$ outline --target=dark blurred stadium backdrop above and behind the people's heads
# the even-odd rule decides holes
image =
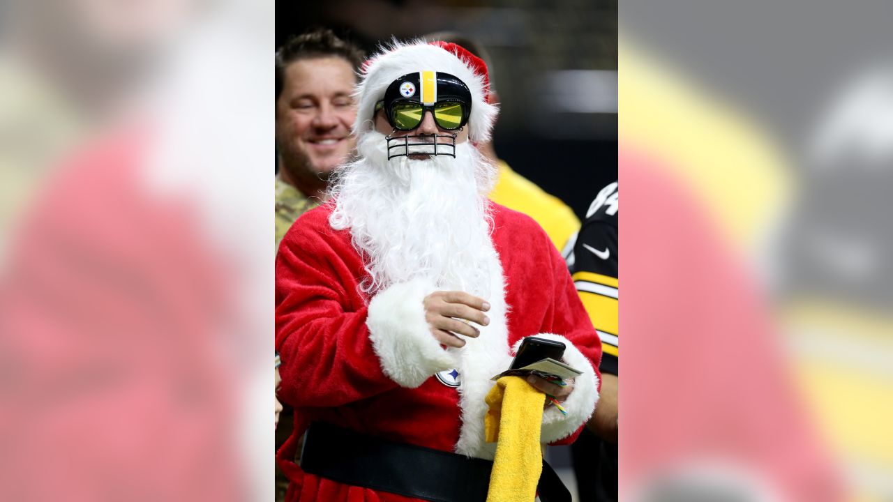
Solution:
[[[615,0],[277,2],[278,46],[314,26],[367,53],[392,37],[445,30],[472,37],[493,60],[500,158],[580,219],[598,190],[616,180]]]

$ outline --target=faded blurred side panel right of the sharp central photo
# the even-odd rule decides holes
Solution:
[[[885,2],[622,3],[628,495],[893,499],[890,19]],[[637,417],[663,405],[683,411],[651,434]]]

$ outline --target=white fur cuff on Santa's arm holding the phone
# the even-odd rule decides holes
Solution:
[[[533,336],[562,342],[565,346],[563,362],[583,372],[573,380],[571,395],[562,403],[567,415],[562,414],[555,406],[549,406],[543,413],[540,441],[551,443],[570,436],[580,428],[580,425],[588,422],[598,402],[598,377],[586,356],[583,356],[569,339],[552,333],[539,333]],[[513,352],[518,351],[522,341],[523,339],[520,339],[514,344]]]

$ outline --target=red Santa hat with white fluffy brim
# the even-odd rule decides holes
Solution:
[[[429,44],[423,40],[409,43],[395,40],[363,64],[355,91],[359,110],[354,133],[360,135],[373,129],[375,104],[384,98],[391,82],[407,73],[422,70],[449,73],[468,86],[472,91],[472,114],[466,126],[469,138],[475,143],[487,141],[499,111],[496,105],[489,103],[487,64],[461,46],[447,42]]]

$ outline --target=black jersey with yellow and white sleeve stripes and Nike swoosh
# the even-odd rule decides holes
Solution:
[[[617,374],[617,181],[602,188],[567,255],[574,284],[602,340],[601,372]],[[569,247],[570,248],[570,247]]]

